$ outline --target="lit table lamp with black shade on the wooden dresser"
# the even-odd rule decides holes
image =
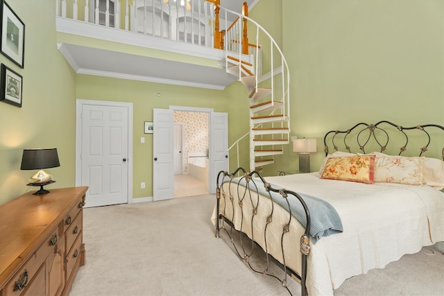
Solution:
[[[33,195],[49,193],[43,189],[44,185],[54,183],[52,176],[43,171],[43,168],[55,168],[60,166],[58,160],[57,148],[36,148],[24,149],[22,157],[21,170],[39,170],[31,177],[28,186],[40,186],[40,190],[35,191]]]

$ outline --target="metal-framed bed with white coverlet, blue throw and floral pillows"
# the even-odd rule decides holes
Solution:
[[[248,236],[301,295],[333,295],[345,279],[444,241],[443,126],[357,123],[327,132],[324,146],[314,173],[219,172],[216,237],[227,234],[250,265]]]

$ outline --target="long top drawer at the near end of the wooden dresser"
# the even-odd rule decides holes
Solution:
[[[22,295],[26,287],[28,287],[31,282],[35,281],[37,275],[40,275],[40,268],[43,268],[43,279],[44,279],[44,261],[50,252],[55,252],[56,244],[60,237],[56,229],[51,232],[49,236],[43,241],[42,245],[37,251],[26,261],[22,268],[15,274],[15,276],[8,282],[6,287],[3,289],[3,295]],[[40,279],[40,278],[39,278]]]

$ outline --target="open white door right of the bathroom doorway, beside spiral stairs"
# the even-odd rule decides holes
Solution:
[[[228,171],[228,114],[212,112],[210,122],[210,193],[216,193],[216,178]]]

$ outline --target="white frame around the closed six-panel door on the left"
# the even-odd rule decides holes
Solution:
[[[82,107],[83,105],[101,105],[128,108],[128,203],[133,202],[133,103],[95,101],[76,99],[76,186],[82,180]]]

